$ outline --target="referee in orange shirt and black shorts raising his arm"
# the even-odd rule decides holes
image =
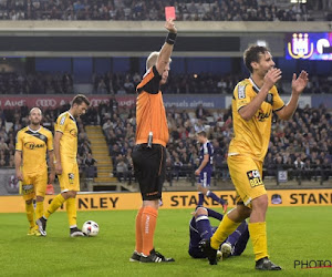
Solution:
[[[136,216],[136,248],[131,261],[174,261],[154,249],[169,136],[160,85],[167,82],[177,33],[173,19],[166,21],[165,28],[168,30],[166,41],[159,52],[152,52],[147,58],[147,71],[136,89],[136,146],[133,151],[133,163],[143,205]]]

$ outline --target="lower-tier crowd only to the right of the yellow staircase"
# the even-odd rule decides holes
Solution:
[[[131,153],[135,142],[135,117],[132,110],[127,111],[127,115],[124,114],[114,112],[113,117],[102,119],[102,124],[114,164],[122,162],[121,166],[129,175],[133,167]],[[211,113],[199,106],[193,113],[169,109],[167,120],[170,133],[167,146],[168,181],[193,175],[199,162],[199,145],[195,134],[200,130],[208,132],[214,144],[216,177],[229,178],[226,158],[232,136],[230,110]],[[324,181],[328,179],[332,170],[331,125],[331,114],[323,107],[298,109],[293,120],[276,121],[264,162],[264,175],[276,176],[276,170],[287,170],[290,178],[317,179],[321,176]],[[114,173],[116,175],[116,170]]]

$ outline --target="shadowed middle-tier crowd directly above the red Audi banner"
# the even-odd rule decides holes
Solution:
[[[91,93],[94,94],[134,94],[141,81],[141,75],[135,73],[105,73],[95,74],[90,81]],[[221,93],[231,94],[237,81],[246,78],[240,74],[169,74],[168,84],[163,88],[164,93],[176,94],[204,94]],[[89,82],[89,81],[87,81]],[[70,73],[0,73],[1,94],[68,94],[74,93],[74,78]],[[280,93],[290,93],[287,88],[289,81],[280,82]],[[332,93],[332,78],[313,75],[304,93],[321,94]]]

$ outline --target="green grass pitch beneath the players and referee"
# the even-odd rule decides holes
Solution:
[[[252,246],[240,257],[209,266],[189,257],[190,209],[159,211],[156,249],[174,264],[129,263],[136,211],[81,212],[79,223],[100,224],[97,237],[69,237],[65,213],[53,214],[46,237],[27,236],[24,214],[0,214],[0,276],[332,276],[332,268],[294,268],[294,260],[332,260],[332,207],[272,207],[268,211],[271,259],[284,270],[253,269]],[[212,220],[212,225],[217,222]]]

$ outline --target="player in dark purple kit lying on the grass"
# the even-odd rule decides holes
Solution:
[[[217,227],[210,225],[209,217],[216,218],[221,222],[222,215],[218,212],[197,206],[195,214],[189,223],[189,255],[193,258],[206,258],[207,256],[199,248],[201,239],[209,239]],[[220,258],[229,256],[239,256],[246,249],[249,239],[248,224],[243,220],[239,227],[221,244],[219,250]]]

